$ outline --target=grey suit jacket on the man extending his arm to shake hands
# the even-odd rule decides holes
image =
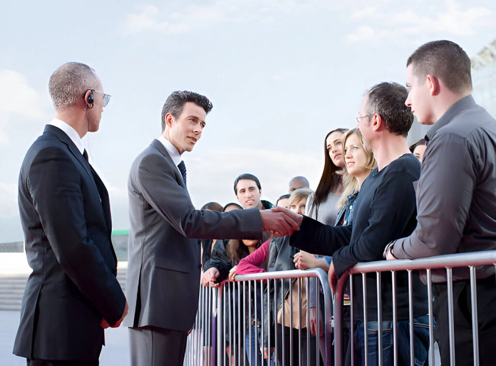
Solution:
[[[259,239],[260,213],[195,210],[178,168],[158,140],[134,160],[127,188],[129,312],[123,324],[187,331],[198,308],[198,239]]]

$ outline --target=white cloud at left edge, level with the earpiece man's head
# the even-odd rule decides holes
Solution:
[[[0,146],[9,142],[9,121],[46,119],[48,112],[42,94],[29,85],[26,77],[14,70],[0,70]]]

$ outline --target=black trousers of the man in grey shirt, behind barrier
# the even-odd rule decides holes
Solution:
[[[434,338],[439,346],[441,365],[450,365],[448,293],[446,283],[433,284],[433,314],[436,321]],[[496,279],[477,280],[479,325],[479,363],[495,365],[496,345]],[[472,305],[470,281],[453,282],[453,320],[456,365],[473,365]]]

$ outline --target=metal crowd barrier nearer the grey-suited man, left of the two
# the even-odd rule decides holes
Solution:
[[[310,336],[313,295],[315,337]],[[201,286],[184,365],[332,365],[331,317],[332,295],[322,269],[236,276],[236,281],[225,281],[219,288]]]

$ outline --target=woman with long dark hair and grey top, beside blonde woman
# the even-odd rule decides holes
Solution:
[[[343,191],[343,134],[346,131],[338,128],[325,136],[324,170],[315,193],[307,201],[307,216],[328,225],[334,225],[336,221],[339,211],[336,203]]]

